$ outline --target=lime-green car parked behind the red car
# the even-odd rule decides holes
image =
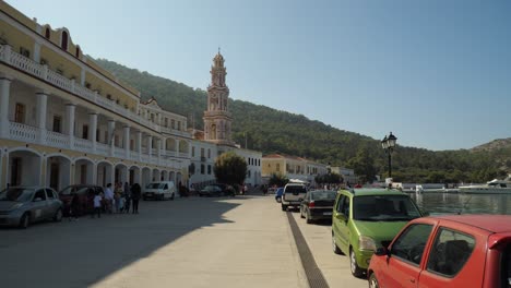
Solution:
[[[332,213],[332,248],[349,255],[355,277],[361,277],[372,253],[388,247],[412,219],[421,217],[412,199],[387,189],[341,190]]]

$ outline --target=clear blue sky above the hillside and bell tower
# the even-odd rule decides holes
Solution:
[[[405,146],[511,136],[511,1],[8,0],[95,58]]]

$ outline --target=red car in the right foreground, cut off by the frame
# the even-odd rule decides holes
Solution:
[[[511,287],[511,216],[412,220],[372,255],[369,287]]]

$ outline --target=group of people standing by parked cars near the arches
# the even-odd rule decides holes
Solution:
[[[142,188],[139,183],[130,185],[128,182],[122,184],[116,183],[112,189],[111,183],[108,183],[105,193],[98,193],[94,196],[94,213],[97,217],[102,217],[102,211],[112,214],[116,213],[130,213],[139,214],[139,202],[142,197]]]

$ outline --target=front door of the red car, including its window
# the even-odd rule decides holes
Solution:
[[[421,263],[433,223],[416,223],[407,226],[392,242],[387,267],[381,269],[381,283],[387,287],[418,287]]]

